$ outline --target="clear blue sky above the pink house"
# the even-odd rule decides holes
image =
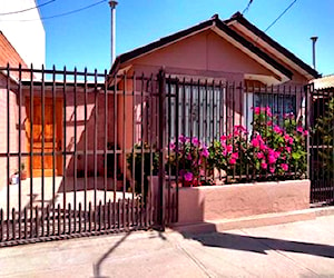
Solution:
[[[39,4],[47,0],[38,0]],[[99,0],[56,0],[40,8],[50,17]],[[265,30],[293,0],[253,0],[245,17]],[[117,54],[186,29],[218,13],[220,19],[242,11],[248,0],[119,0]],[[317,70],[334,73],[334,1],[297,0],[268,31],[273,39],[312,63],[310,37],[318,36]],[[107,1],[66,17],[43,20],[47,34],[47,67],[75,66],[82,70],[110,68],[110,9]]]

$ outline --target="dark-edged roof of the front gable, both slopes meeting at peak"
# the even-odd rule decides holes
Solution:
[[[228,37],[229,40],[233,40],[234,43],[238,44],[240,48],[246,49],[246,51],[250,52],[253,56],[259,58],[263,62],[267,63],[274,71],[278,71],[281,75],[285,76],[286,78],[291,79],[293,73],[289,69],[287,69],[282,63],[277,62],[275,59],[269,57],[266,52],[261,50],[258,47],[254,46],[252,42],[246,40],[244,37],[238,34],[236,31],[230,29],[224,21],[222,21],[217,14],[213,16],[209,20],[206,20],[199,24],[190,27],[186,30],[176,32],[174,34],[164,37],[155,42],[151,42],[147,46],[134,49],[129,52],[122,53],[118,56],[111,67],[110,73],[115,73],[119,66],[126,61],[136,59],[140,56],[147,54],[151,51],[155,51],[159,48],[166,47],[170,43],[174,43],[180,39],[186,37],[193,36],[206,29],[214,29],[215,31],[219,32]]]

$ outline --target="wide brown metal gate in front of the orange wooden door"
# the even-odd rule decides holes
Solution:
[[[161,88],[153,76],[0,68],[0,245],[160,225]]]

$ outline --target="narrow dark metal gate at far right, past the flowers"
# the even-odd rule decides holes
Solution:
[[[306,89],[312,96],[310,140],[311,202],[334,203],[334,88]]]

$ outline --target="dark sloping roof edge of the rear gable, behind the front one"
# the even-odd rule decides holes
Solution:
[[[286,48],[284,48],[282,44],[279,44],[277,41],[273,40],[269,36],[267,36],[265,32],[259,30],[256,26],[252,24],[247,19],[244,18],[244,16],[240,12],[236,12],[235,14],[233,14],[230,17],[230,19],[227,19],[224,22],[226,24],[229,24],[233,21],[237,21],[238,23],[240,23],[243,27],[245,27],[247,30],[249,30],[252,33],[254,33],[257,38],[262,39],[264,42],[266,42],[273,49],[277,50],[279,53],[285,56],[296,67],[304,70],[305,72],[311,75],[313,78],[320,77],[320,75],[316,70],[314,70],[307,63],[303,62],[298,57],[296,57],[294,53],[288,51]]]

